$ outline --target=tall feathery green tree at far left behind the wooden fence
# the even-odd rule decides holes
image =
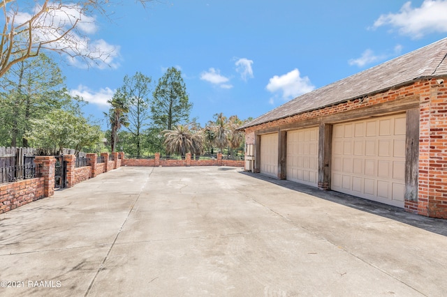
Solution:
[[[28,146],[23,135],[31,120],[55,109],[78,110],[80,100],[68,94],[64,79],[57,64],[45,54],[15,63],[0,77],[0,145]]]

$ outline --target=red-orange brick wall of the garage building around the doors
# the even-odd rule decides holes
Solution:
[[[289,116],[245,129],[247,144],[255,143],[255,132],[281,125],[362,109],[380,103],[418,96],[420,98],[418,201],[405,201],[406,211],[434,218],[447,218],[447,87],[437,78],[390,89],[367,98],[349,100],[312,112]],[[447,81],[447,77],[443,77]]]

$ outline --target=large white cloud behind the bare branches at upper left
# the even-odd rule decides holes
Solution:
[[[34,13],[40,10],[41,5],[36,4]],[[32,17],[30,13],[15,13],[12,10],[9,15],[15,15],[15,26],[25,24]],[[76,22],[78,23],[72,30]],[[63,52],[75,67],[104,69],[119,66],[116,59],[119,57],[120,47],[110,45],[102,39],[91,40],[89,35],[98,29],[95,19],[85,15],[75,3],[48,3],[45,13],[38,15],[32,26],[34,40],[49,42],[43,48]],[[82,59],[85,57],[87,58]]]

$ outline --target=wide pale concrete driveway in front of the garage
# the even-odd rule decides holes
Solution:
[[[0,215],[0,296],[446,296],[446,227],[230,167],[121,167]]]

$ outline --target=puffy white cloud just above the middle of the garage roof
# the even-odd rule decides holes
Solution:
[[[271,93],[282,92],[282,98],[287,100],[309,93],[315,86],[311,84],[309,77],[300,77],[300,70],[295,68],[285,75],[274,75],[265,88]]]

